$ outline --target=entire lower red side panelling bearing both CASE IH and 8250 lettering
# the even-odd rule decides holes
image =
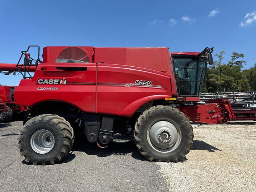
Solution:
[[[172,96],[170,77],[166,73],[115,64],[72,65],[86,66],[86,71],[57,70],[60,66],[70,66],[70,64],[40,64],[32,80],[22,80],[20,86],[16,87],[14,92],[16,103],[34,106],[46,101],[62,101],[73,104],[85,112],[132,116],[142,104]],[[52,70],[48,70],[49,68]],[[63,78],[66,79],[66,84],[38,84],[38,79]],[[150,80],[152,84],[136,86],[136,80]],[[47,90],[47,88],[58,89]]]

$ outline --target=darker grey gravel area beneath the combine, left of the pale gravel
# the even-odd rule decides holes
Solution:
[[[100,150],[80,136],[74,151],[59,164],[27,164],[17,148],[21,126],[0,124],[0,191],[168,191],[159,166],[146,161],[134,142]]]

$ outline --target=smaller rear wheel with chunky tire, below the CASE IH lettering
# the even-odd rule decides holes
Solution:
[[[74,142],[70,123],[58,115],[43,114],[28,120],[18,136],[20,155],[34,165],[54,164],[67,156]]]

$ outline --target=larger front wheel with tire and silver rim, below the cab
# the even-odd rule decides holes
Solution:
[[[153,106],[138,118],[134,140],[150,161],[178,162],[193,144],[193,128],[186,116],[171,106]]]

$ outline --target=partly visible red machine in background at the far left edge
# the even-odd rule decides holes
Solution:
[[[26,117],[26,106],[20,106],[15,103],[14,90],[15,86],[0,85],[0,102],[4,103],[7,108],[7,117],[2,120],[2,123],[10,122],[13,116],[15,116],[16,118],[21,116],[22,120]]]

